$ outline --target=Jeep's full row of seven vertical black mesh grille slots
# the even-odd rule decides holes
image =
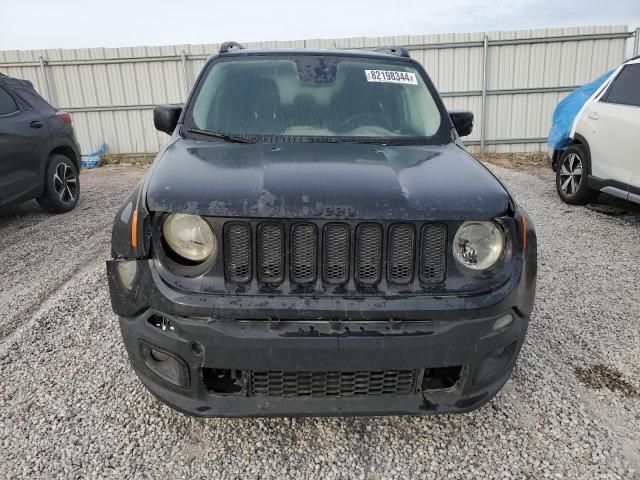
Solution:
[[[441,223],[230,220],[222,249],[227,282],[255,278],[265,287],[289,282],[305,291],[321,291],[321,282],[365,293],[381,284],[403,292],[438,288],[446,279],[446,246]]]

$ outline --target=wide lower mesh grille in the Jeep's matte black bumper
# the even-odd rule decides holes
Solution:
[[[418,370],[360,372],[250,372],[249,395],[325,397],[415,393]]]

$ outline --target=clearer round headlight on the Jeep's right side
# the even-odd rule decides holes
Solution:
[[[453,238],[454,258],[473,270],[494,265],[504,248],[504,232],[496,222],[464,222]]]

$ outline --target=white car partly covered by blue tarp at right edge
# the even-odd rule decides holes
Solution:
[[[595,91],[570,138],[552,155],[562,200],[585,204],[605,192],[640,203],[640,57],[619,66]]]

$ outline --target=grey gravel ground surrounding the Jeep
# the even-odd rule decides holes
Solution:
[[[84,172],[66,215],[1,210],[0,477],[640,478],[640,228],[491,168],[538,229],[538,299],[512,381],[457,416],[182,416],[129,368],[105,280],[144,171]]]

